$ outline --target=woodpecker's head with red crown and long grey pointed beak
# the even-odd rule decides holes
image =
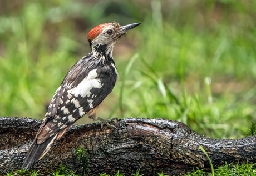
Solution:
[[[87,35],[91,50],[96,50],[96,52],[111,52],[119,38],[139,24],[134,23],[120,26],[119,23],[113,22],[94,27]]]

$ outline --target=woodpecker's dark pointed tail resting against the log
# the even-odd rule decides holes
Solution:
[[[53,141],[56,139],[57,134],[48,138],[42,144],[37,144],[37,139],[33,141],[28,149],[27,156],[23,162],[22,169],[30,169],[35,162],[42,159],[43,156],[50,150]]]

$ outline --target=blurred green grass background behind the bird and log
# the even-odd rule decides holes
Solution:
[[[114,49],[119,79],[99,117],[179,120],[215,138],[256,118],[256,1],[0,1],[0,115],[43,119],[105,22],[141,22]],[[78,123],[91,123],[84,117]]]

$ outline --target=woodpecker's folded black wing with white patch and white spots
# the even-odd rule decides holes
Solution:
[[[43,143],[75,123],[89,110],[96,108],[112,91],[115,81],[115,69],[112,66],[104,66],[101,69],[92,69],[76,86],[62,86],[56,115],[38,135],[38,143]]]

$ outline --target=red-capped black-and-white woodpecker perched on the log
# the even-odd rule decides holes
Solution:
[[[121,36],[139,24],[120,26],[116,22],[104,23],[88,32],[91,52],[71,67],[53,95],[45,118],[28,149],[23,169],[31,168],[37,160],[42,159],[55,139],[60,139],[83,115],[97,120],[96,109],[112,91],[117,79],[113,48]]]

